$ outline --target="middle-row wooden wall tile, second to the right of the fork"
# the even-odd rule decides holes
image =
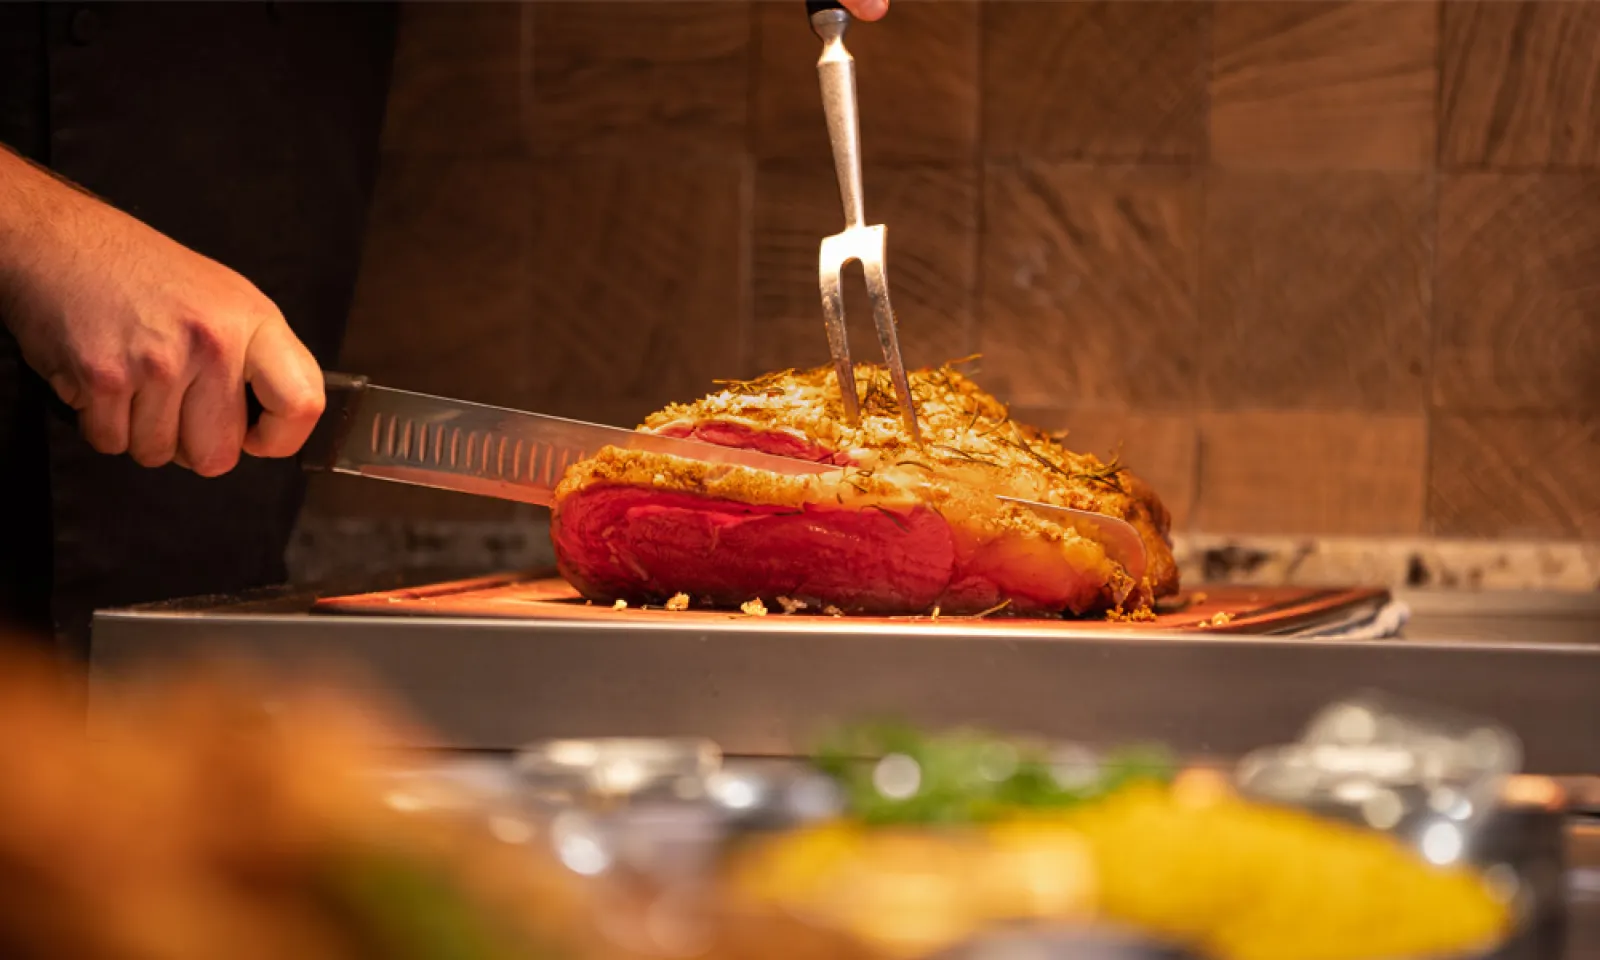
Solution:
[[[1418,174],[1213,171],[1195,339],[1206,402],[1421,410],[1430,240]]]

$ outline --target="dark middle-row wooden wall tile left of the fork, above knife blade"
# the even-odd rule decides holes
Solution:
[[[738,371],[749,176],[744,160],[533,170],[528,403],[635,426]]]

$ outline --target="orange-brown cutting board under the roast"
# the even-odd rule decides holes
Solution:
[[[1237,587],[1216,586],[1186,590],[1163,600],[1154,621],[1118,622],[1094,619],[1037,619],[1000,614],[982,618],[984,627],[1037,632],[1040,627],[1107,632],[1222,632],[1222,634],[1286,634],[1317,626],[1360,618],[1381,608],[1389,592],[1366,587]],[[810,611],[749,616],[730,610],[683,610],[661,606],[614,610],[586,603],[566,581],[528,574],[499,574],[467,581],[430,584],[378,594],[325,597],[314,605],[322,613],[355,613],[382,616],[453,616],[610,624],[686,624],[744,621],[752,627],[768,622],[824,621],[832,624],[893,622],[926,627],[971,626],[978,618],[960,616],[843,616],[830,618]]]

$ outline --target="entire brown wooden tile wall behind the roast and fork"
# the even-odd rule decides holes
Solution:
[[[1186,530],[1600,539],[1600,3],[894,0],[850,45],[912,362],[982,352]],[[344,366],[630,424],[822,362],[816,50],[797,0],[408,8]]]

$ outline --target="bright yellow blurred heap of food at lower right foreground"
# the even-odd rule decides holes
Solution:
[[[1384,960],[1472,952],[1510,910],[1477,872],[1392,838],[1226,794],[1134,786],[1072,810],[1107,917],[1224,960]]]

